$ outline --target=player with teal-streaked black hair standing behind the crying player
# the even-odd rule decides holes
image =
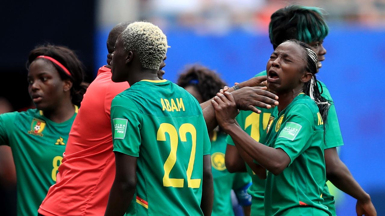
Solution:
[[[276,48],[283,41],[293,38],[305,42],[318,55],[320,60],[318,62],[318,69],[322,66],[321,61],[325,60],[326,50],[322,43],[326,35],[328,35],[328,26],[322,17],[320,8],[291,5],[277,10],[271,16],[271,22],[269,24],[269,36],[273,47]],[[262,71],[256,76],[266,77],[266,71]],[[260,85],[258,79],[259,78],[253,78],[251,80],[245,81],[240,83],[238,87],[241,88],[242,86],[254,86],[256,84]],[[333,105],[333,99],[331,98],[328,88],[321,81],[318,82],[320,83],[319,87],[320,91],[322,92],[322,96],[332,102],[328,113],[329,120],[325,125],[326,177],[339,189],[357,199],[357,214],[362,215],[366,213],[368,215],[375,215],[376,211],[369,194],[367,194],[360,187],[357,181],[355,181],[349,169],[338,156],[336,147],[343,145],[343,140],[335,106]],[[274,112],[276,113],[275,110],[263,109],[263,121],[268,121],[270,114],[272,118],[274,118],[276,116],[274,115]],[[240,115],[237,116],[237,121],[240,124],[246,120],[246,118],[242,118],[242,116],[248,117],[248,113],[241,111]],[[262,126],[263,124],[259,121],[258,118],[254,118],[254,121],[254,125],[260,125],[259,131],[254,131],[254,134],[264,134],[266,124]],[[229,140],[229,143],[231,144],[232,141]],[[230,150],[231,148],[234,147],[230,147]],[[236,151],[231,152],[233,153],[232,158],[236,159],[238,153]],[[226,159],[230,159],[230,156],[231,155],[228,154],[228,158]],[[226,160],[226,166],[228,166],[228,168],[231,168],[233,164],[236,163],[231,164]],[[323,191],[323,199],[323,204],[328,206],[333,216],[335,216],[336,212],[334,197],[329,193],[326,183]]]

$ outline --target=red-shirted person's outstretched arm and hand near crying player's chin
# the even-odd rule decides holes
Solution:
[[[255,106],[263,108],[271,108],[278,105],[278,96],[266,91],[266,87],[244,87],[232,92],[234,102],[239,110],[251,110],[261,113]],[[215,110],[211,105],[211,100],[201,103],[204,120],[206,121],[207,130],[212,131],[218,125],[215,118]]]

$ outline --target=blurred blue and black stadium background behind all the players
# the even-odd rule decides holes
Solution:
[[[35,45],[67,45],[79,54],[92,81],[105,64],[109,30],[128,20],[147,20],[164,30],[171,46],[166,75],[176,81],[186,65],[216,70],[229,85],[265,70],[273,52],[267,26],[270,15],[291,1],[276,0],[86,0],[7,3],[0,35],[2,105],[31,106],[25,61]],[[335,101],[345,145],[340,157],[367,191],[379,216],[385,215],[385,2],[383,0],[303,0],[325,8],[330,34],[319,79]],[[7,83],[7,84],[6,84]],[[2,111],[2,110],[0,110]],[[2,170],[0,170],[0,175]],[[8,174],[8,175],[12,175]],[[12,178],[0,179],[12,188]],[[8,186],[7,186],[8,185]],[[11,186],[9,186],[11,185]],[[8,193],[8,192],[7,192]],[[337,214],[355,214],[355,199],[332,189]],[[1,196],[2,199],[8,199]]]

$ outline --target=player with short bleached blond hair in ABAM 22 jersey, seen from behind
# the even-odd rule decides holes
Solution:
[[[112,81],[131,87],[112,100],[116,174],[105,215],[211,214],[206,123],[193,96],[158,78],[166,51],[166,35],[147,22],[131,23],[115,43]]]

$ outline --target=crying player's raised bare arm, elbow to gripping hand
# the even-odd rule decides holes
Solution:
[[[275,175],[280,174],[288,166],[290,158],[285,151],[265,146],[239,128],[235,120],[238,110],[231,93],[219,93],[211,103],[215,108],[218,124],[253,160]]]

